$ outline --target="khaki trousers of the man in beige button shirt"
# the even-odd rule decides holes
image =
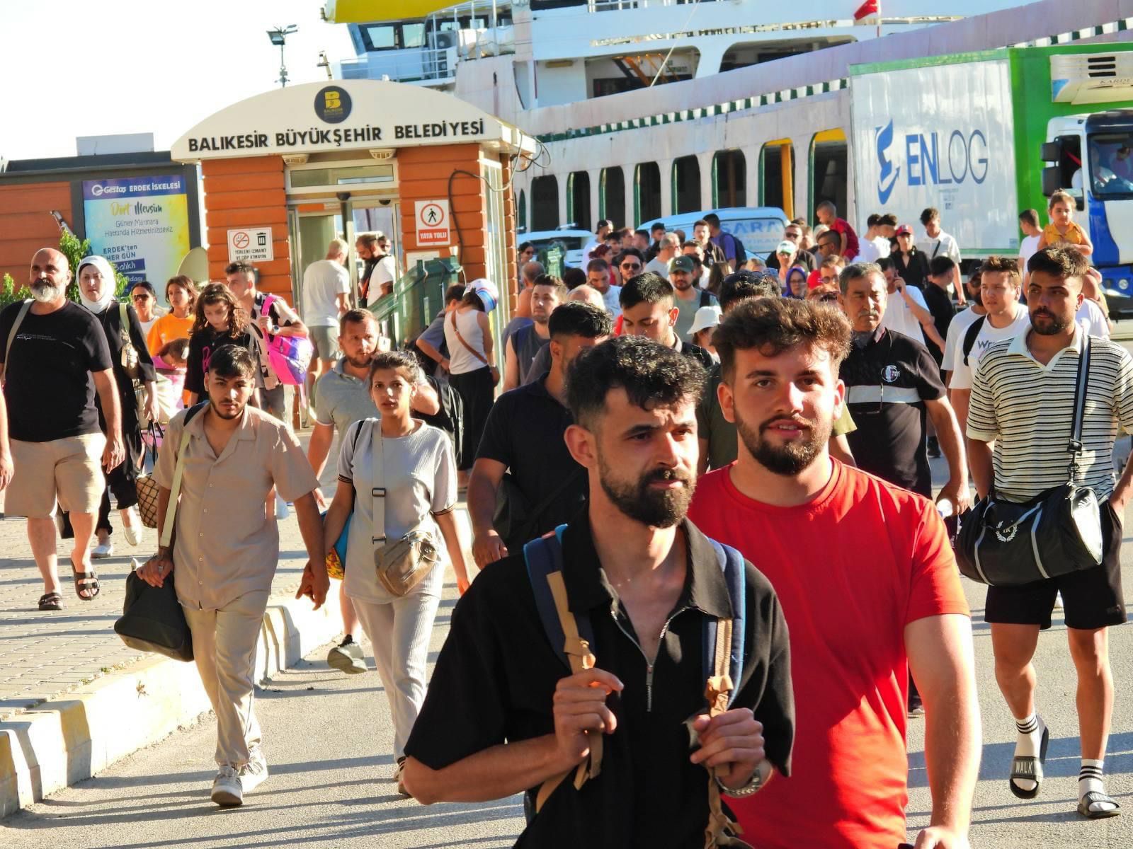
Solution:
[[[216,763],[239,770],[261,743],[252,701],[267,593],[249,592],[220,610],[182,607],[201,683],[216,713]]]

